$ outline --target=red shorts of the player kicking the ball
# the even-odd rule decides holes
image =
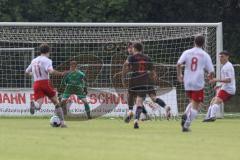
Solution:
[[[33,84],[33,91],[35,101],[45,96],[51,98],[56,95],[56,91],[52,87],[50,80],[35,81]]]

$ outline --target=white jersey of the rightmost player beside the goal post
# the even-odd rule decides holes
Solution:
[[[221,80],[230,78],[230,83],[221,83],[221,90],[226,91],[229,94],[234,95],[236,92],[236,80],[235,80],[235,72],[231,62],[225,63],[221,68]]]

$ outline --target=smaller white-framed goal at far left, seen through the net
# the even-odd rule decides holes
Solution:
[[[24,70],[34,57],[34,48],[0,47],[0,87],[1,89],[18,89],[31,87],[31,79]]]

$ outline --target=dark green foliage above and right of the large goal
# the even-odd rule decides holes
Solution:
[[[188,0],[1,0],[2,22],[223,22],[224,49],[240,63],[240,3]]]

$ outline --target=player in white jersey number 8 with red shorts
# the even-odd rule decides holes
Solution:
[[[195,47],[182,53],[177,62],[177,77],[179,82],[184,82],[184,88],[190,102],[182,116],[182,131],[190,131],[191,122],[196,118],[200,103],[203,102],[204,93],[204,72],[208,72],[211,79],[214,74],[212,60],[202,47],[205,39],[203,36],[196,36]],[[184,76],[182,75],[182,65],[185,65]]]

